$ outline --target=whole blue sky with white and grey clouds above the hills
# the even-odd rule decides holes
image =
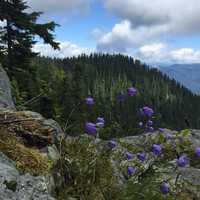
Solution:
[[[27,0],[42,22],[61,26],[61,51],[37,44],[42,55],[122,53],[159,63],[200,62],[199,0]]]

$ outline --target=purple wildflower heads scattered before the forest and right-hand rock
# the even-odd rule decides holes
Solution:
[[[117,100],[119,102],[123,102],[126,100],[127,97],[134,97],[136,96],[138,93],[137,89],[134,87],[130,87],[127,89],[127,95],[123,94],[123,93],[119,93],[117,96]],[[86,98],[85,100],[86,104],[91,106],[94,104],[94,100],[91,97]],[[177,156],[176,158],[176,168],[183,168],[183,167],[187,167],[190,165],[189,162],[189,156],[187,155],[187,153],[185,152],[184,148],[182,149],[183,151],[176,151],[176,147],[177,147],[177,139],[180,143],[182,143],[181,145],[183,146],[183,138],[182,137],[178,137],[177,135],[174,136],[171,133],[168,133],[165,131],[165,129],[163,128],[159,128],[159,130],[156,132],[153,125],[153,115],[154,115],[154,110],[149,107],[149,106],[144,106],[142,108],[139,109],[139,114],[142,118],[142,120],[138,123],[139,127],[144,129],[147,132],[154,132],[156,134],[158,134],[158,138],[159,140],[151,140],[150,144],[144,144],[143,149],[140,149],[138,152],[125,152],[125,156],[124,158],[127,161],[132,161],[132,160],[137,160],[137,162],[140,162],[140,164],[138,164],[137,162],[134,164],[134,162],[131,162],[130,164],[128,164],[127,169],[126,169],[126,173],[128,175],[128,177],[133,177],[134,175],[138,174],[138,172],[140,171],[140,168],[144,168],[144,166],[142,166],[142,163],[147,162],[148,161],[148,155],[151,154],[155,159],[163,159],[163,160],[167,160],[168,158],[168,154],[169,152],[173,152],[173,154],[175,153],[175,155]],[[105,120],[103,117],[98,117],[95,123],[92,122],[87,122],[85,124],[85,131],[88,135],[92,135],[92,136],[97,136],[98,132],[100,129],[102,129],[105,125]],[[118,146],[118,142],[116,140],[110,140],[108,142],[108,147],[111,150],[115,150]],[[168,151],[169,150],[169,151]],[[172,156],[174,156],[172,154]],[[200,147],[196,147],[195,149],[193,149],[193,155],[195,156],[196,159],[200,159]],[[171,157],[172,157],[171,156]],[[171,158],[170,157],[170,158]],[[170,186],[170,182],[169,180],[163,180],[160,183],[160,191],[163,195],[167,195],[171,192],[171,186]]]

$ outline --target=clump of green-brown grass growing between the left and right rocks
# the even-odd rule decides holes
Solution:
[[[118,198],[119,189],[109,153],[100,151],[97,142],[91,138],[83,136],[63,141],[58,167],[61,168],[64,178],[63,187],[57,188],[59,199]]]

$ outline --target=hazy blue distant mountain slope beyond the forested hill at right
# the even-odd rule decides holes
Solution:
[[[174,78],[195,94],[200,94],[200,63],[174,64],[159,68],[170,78]]]

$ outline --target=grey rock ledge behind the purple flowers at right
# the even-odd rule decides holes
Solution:
[[[174,144],[176,151],[173,152],[172,150],[173,155],[171,156],[171,159],[162,160],[162,164],[159,166],[156,165],[156,162],[158,162],[157,157],[151,152],[151,144],[161,141],[163,146],[164,144],[168,144],[170,148],[173,148]],[[134,153],[138,152],[140,149],[146,148],[147,160],[142,163],[143,169],[138,173],[138,176],[145,174],[153,167],[158,172],[154,177],[155,182],[171,180],[171,182],[175,184],[178,179],[179,183],[184,185],[183,187],[185,187],[186,193],[190,195],[189,199],[200,199],[200,158],[197,158],[194,155],[195,148],[200,146],[200,130],[177,132],[163,129],[163,133],[156,131],[154,133],[146,133],[139,136],[130,136],[118,139],[117,142],[118,145],[113,151],[111,160],[121,186],[123,186],[127,181],[126,173],[124,176],[123,171],[121,171],[122,166],[134,165],[137,163],[137,155]],[[166,146],[165,148],[167,148]],[[189,165],[186,167],[177,167],[176,153],[184,153],[184,150],[181,152],[181,148],[187,148],[188,154],[190,154],[188,155]],[[163,152],[163,154],[168,154],[169,151],[170,149]],[[133,160],[125,161],[124,155],[126,152],[133,153]],[[135,178],[137,179],[137,177]]]

